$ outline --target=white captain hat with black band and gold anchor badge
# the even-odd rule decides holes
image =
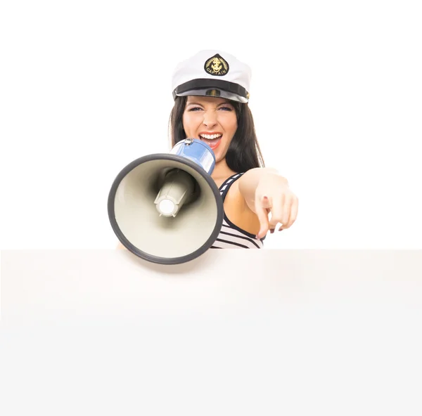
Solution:
[[[173,72],[173,98],[212,96],[248,103],[251,71],[224,51],[206,50],[179,63]]]

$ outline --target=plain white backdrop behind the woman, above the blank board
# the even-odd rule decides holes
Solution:
[[[171,75],[221,48],[252,68],[267,166],[298,220],[267,247],[421,248],[417,1],[2,1],[2,249],[109,248],[107,197],[170,150]]]

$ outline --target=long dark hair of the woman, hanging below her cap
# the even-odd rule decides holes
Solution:
[[[186,138],[183,128],[183,113],[187,97],[177,97],[170,113],[170,136],[172,147]],[[235,172],[245,172],[255,167],[264,167],[264,158],[255,133],[252,112],[248,103],[230,101],[236,110],[238,128],[227,149],[227,166]]]

